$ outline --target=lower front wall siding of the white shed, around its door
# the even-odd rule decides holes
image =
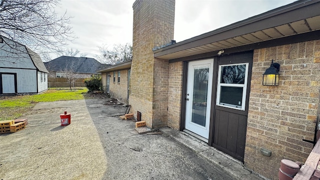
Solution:
[[[16,73],[17,93],[37,93],[36,69],[0,68],[0,72]]]

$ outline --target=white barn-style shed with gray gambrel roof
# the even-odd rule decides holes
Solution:
[[[47,90],[47,73],[37,53],[0,37],[0,94],[43,92]]]

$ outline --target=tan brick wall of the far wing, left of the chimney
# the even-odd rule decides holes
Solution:
[[[117,82],[118,71],[115,71],[115,82],[113,82],[113,71],[110,72],[110,87],[109,94],[111,97],[117,98],[123,103],[128,103],[127,99],[127,83],[128,69],[120,70],[120,82]]]

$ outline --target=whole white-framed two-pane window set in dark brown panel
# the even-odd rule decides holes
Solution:
[[[245,110],[249,63],[219,65],[216,105]]]

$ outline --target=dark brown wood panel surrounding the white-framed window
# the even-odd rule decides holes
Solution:
[[[213,131],[210,131],[212,140],[209,140],[209,144],[213,147],[243,161],[244,158],[244,147],[246,138],[246,125],[247,125],[247,113],[248,113],[248,99],[249,99],[249,87],[250,87],[250,76],[252,69],[253,52],[246,51],[241,53],[233,53],[225,56],[220,56],[215,63],[215,75],[213,78],[216,84],[218,65],[222,64],[234,64],[234,63],[245,63],[248,62],[248,82],[246,89],[246,101],[245,110],[238,110],[228,107],[222,107],[215,105],[216,103],[216,85],[212,92],[212,107],[214,108],[211,112],[214,112],[213,119],[211,119]]]

